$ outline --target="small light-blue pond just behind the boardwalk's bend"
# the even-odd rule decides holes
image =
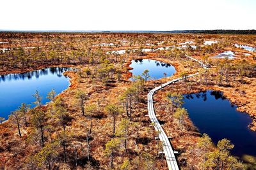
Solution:
[[[148,69],[150,78],[155,79],[163,78],[164,73],[166,76],[172,76],[176,72],[171,64],[149,59],[132,60],[130,67],[133,68],[130,70],[132,75],[141,76],[143,71]]]

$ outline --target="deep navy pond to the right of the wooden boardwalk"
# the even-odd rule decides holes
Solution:
[[[244,154],[256,156],[256,132],[250,131],[252,122],[246,113],[236,111],[221,92],[207,90],[197,94],[184,95],[184,108],[201,133],[208,134],[217,144],[227,138],[234,145],[232,154],[241,157]]]

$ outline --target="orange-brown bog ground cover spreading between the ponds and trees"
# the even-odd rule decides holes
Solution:
[[[22,41],[21,41],[22,40]],[[154,52],[141,52],[142,48],[157,48],[180,46],[179,43],[185,41],[194,41],[193,45],[202,46],[196,50],[156,50]],[[204,46],[204,40],[218,40],[218,45]],[[177,129],[177,121],[173,118],[173,113],[166,110],[164,106],[165,92],[179,92],[181,94],[200,92],[202,90],[220,90],[230,101],[237,104],[239,111],[244,111],[251,115],[253,123],[250,125],[252,130],[256,130],[256,78],[253,70],[246,68],[250,73],[236,76],[237,72],[230,69],[227,81],[218,80],[218,73],[221,63],[236,65],[236,61],[219,62],[218,60],[208,59],[209,56],[216,55],[225,50],[237,52],[237,57],[245,59],[249,64],[255,64],[255,52],[235,48],[234,43],[245,45],[255,45],[256,36],[252,35],[212,35],[212,34],[62,34],[62,33],[15,33],[0,32],[0,41],[9,43],[0,44],[0,48],[17,47],[40,47],[35,49],[24,48],[24,50],[11,50],[7,53],[1,53],[0,49],[0,74],[21,73],[40,69],[48,66],[68,66],[76,67],[77,71],[67,71],[64,74],[70,78],[70,86],[67,90],[61,92],[57,98],[63,99],[63,103],[68,113],[68,122],[66,127],[70,139],[67,143],[67,163],[64,162],[64,153],[62,145],[56,146],[56,155],[51,159],[52,169],[87,169],[88,168],[88,140],[90,141],[90,166],[92,169],[109,169],[109,157],[106,156],[106,143],[113,138],[113,118],[108,115],[104,109],[109,103],[116,104],[121,108],[122,113],[116,117],[116,127],[120,125],[121,119],[126,118],[124,104],[120,97],[125,90],[132,87],[132,81],[129,78],[132,74],[129,72],[132,59],[154,59],[163,61],[175,67],[176,73],[161,80],[148,81],[145,83],[139,93],[139,99],[132,101],[132,124],[139,125],[139,138],[137,129],[134,125],[129,127],[129,137],[127,139],[127,152],[124,146],[120,146],[119,151],[115,153],[114,168],[121,169],[122,164],[129,160],[129,169],[167,169],[166,162],[157,156],[159,141],[154,139],[157,134],[153,127],[150,127],[150,120],[147,115],[147,93],[157,85],[161,85],[168,80],[180,76],[181,73],[193,74],[200,72],[196,77],[189,78],[188,82],[180,81],[169,85],[154,95],[156,101],[156,114],[159,120],[164,122],[163,129],[168,136],[172,136],[173,148],[179,151],[179,165],[182,169],[202,169],[203,155],[193,152],[196,147],[200,134],[189,117],[185,118],[186,128]],[[123,43],[122,41],[125,41]],[[159,43],[162,42],[163,43]],[[96,46],[100,43],[113,43],[111,46]],[[153,46],[145,45],[152,43]],[[159,43],[159,44],[157,44]],[[111,54],[106,52],[113,50],[133,50],[137,51]],[[19,57],[19,53],[22,53]],[[38,59],[37,55],[43,55],[46,59]],[[252,55],[243,57],[242,53],[251,53]],[[25,53],[25,54],[24,54]],[[193,57],[205,60],[212,64],[208,73],[184,56],[184,53]],[[24,64],[25,58],[33,64]],[[65,57],[62,57],[65,56]],[[33,59],[32,59],[33,58]],[[239,60],[239,59],[236,59]],[[14,62],[13,62],[14,61]],[[99,69],[107,64],[111,67],[108,76],[98,76]],[[23,66],[23,67],[22,67]],[[222,66],[222,65],[221,65]],[[225,65],[226,68],[226,65]],[[91,74],[86,74],[86,69],[90,69]],[[254,68],[255,69],[255,68]],[[118,71],[121,78],[118,81]],[[228,69],[229,71],[229,69]],[[252,72],[252,73],[251,73]],[[207,74],[207,75],[206,75]],[[106,75],[105,75],[106,76]],[[205,83],[204,77],[207,77]],[[107,77],[107,76],[106,76]],[[225,78],[223,78],[225,79]],[[77,99],[77,91],[86,94],[84,107],[95,104],[96,109],[92,115],[92,133],[88,139],[88,127],[90,118],[83,116]],[[42,107],[45,112],[51,110],[53,103],[47,103]],[[28,119],[31,121],[31,111],[28,113]],[[62,127],[56,122],[55,117],[47,118],[45,122],[49,127],[45,130],[46,143],[52,143],[59,138]],[[38,142],[31,122],[28,127],[22,124],[22,137],[19,137],[16,124],[10,120],[0,125],[0,168],[1,169],[46,169],[47,164],[41,167],[35,164],[31,159],[36,153],[42,152],[42,146]],[[87,138],[87,141],[86,141]],[[157,146],[158,145],[158,146]],[[66,145],[65,145],[66,146]],[[145,156],[145,153],[150,156]],[[77,158],[77,159],[76,159]],[[152,161],[154,160],[154,161]],[[148,164],[145,164],[147,162]],[[45,163],[45,162],[44,162]]]

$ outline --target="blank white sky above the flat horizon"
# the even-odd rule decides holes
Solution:
[[[256,0],[1,0],[0,30],[256,29]]]

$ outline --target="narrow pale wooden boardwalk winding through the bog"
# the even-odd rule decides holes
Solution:
[[[207,66],[205,66],[205,64],[203,62],[201,62],[199,60],[196,60],[193,57],[190,57],[188,55],[186,55],[186,57],[188,57],[189,59],[195,60],[202,67],[207,69]],[[191,77],[191,76],[196,76],[197,74],[199,74],[199,73],[190,74],[188,76],[188,78]],[[168,139],[168,136],[164,132],[163,127],[161,127],[161,125],[159,124],[159,121],[156,118],[156,114],[155,114],[155,111],[154,111],[154,104],[153,104],[153,95],[154,95],[154,92],[156,92],[157,90],[162,89],[166,85],[170,85],[171,83],[174,83],[176,81],[180,81],[182,79],[183,78],[177,78],[175,80],[167,81],[166,83],[162,84],[161,86],[150,90],[150,92],[148,93],[148,117],[150,118],[151,122],[154,124],[154,127],[155,127],[156,131],[159,132],[158,136],[159,136],[159,139],[163,143],[163,150],[164,150],[164,155],[165,155],[166,162],[167,162],[167,165],[168,165],[168,169],[172,169],[172,170],[179,170],[179,166],[177,164],[177,160],[175,158],[175,154],[174,154],[172,145],[170,143],[170,139]]]

